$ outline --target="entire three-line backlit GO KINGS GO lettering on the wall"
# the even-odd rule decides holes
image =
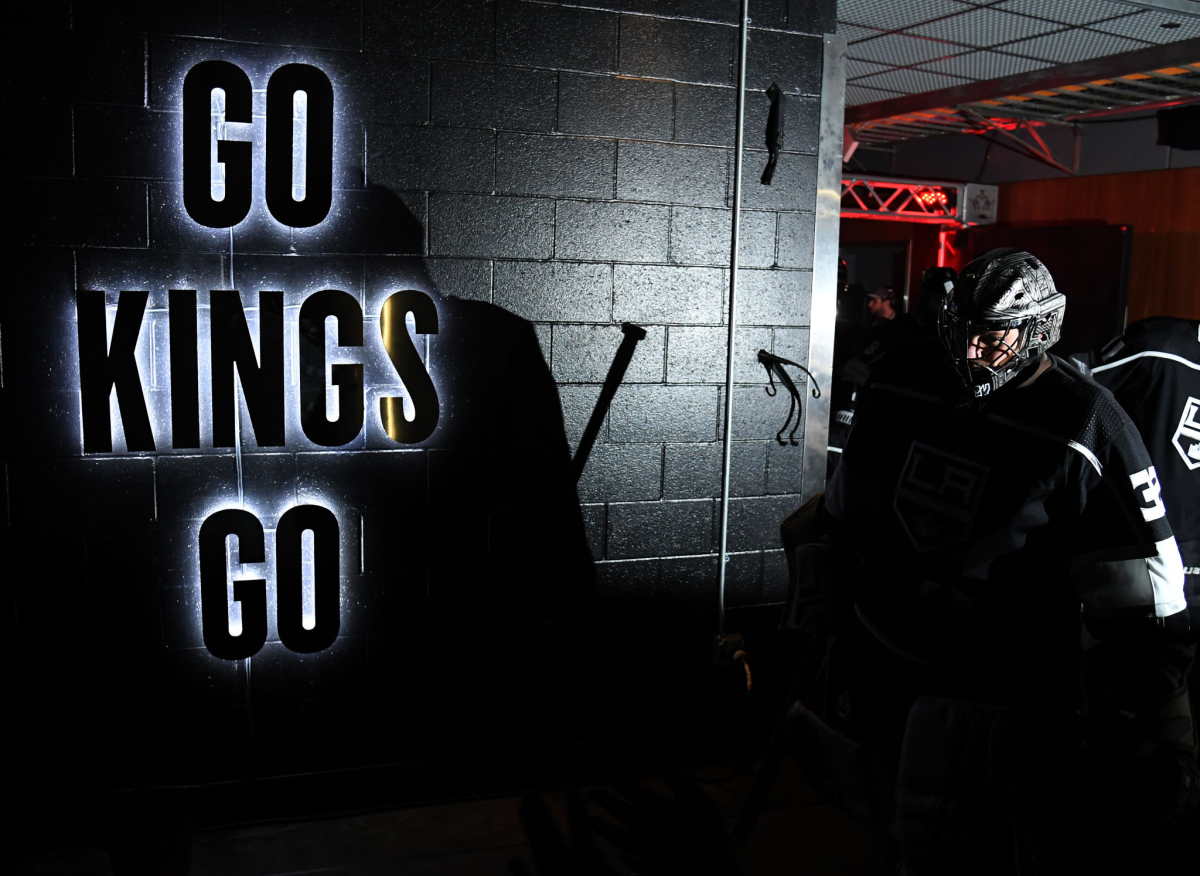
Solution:
[[[228,139],[224,131],[226,122],[252,122],[252,103],[250,78],[228,61],[197,64],[184,79],[184,209],[208,228],[233,228],[253,204],[254,144]],[[334,191],[334,89],[322,71],[287,64],[271,74],[263,155],[263,202],[271,216],[293,228],[322,222]],[[246,430],[238,414],[242,402],[259,448],[286,445],[289,404],[299,407],[292,413],[299,414],[302,442],[346,446],[367,425],[368,395],[377,386],[394,388],[397,378],[403,395],[389,389],[389,395],[378,396],[378,425],[384,433],[398,444],[416,444],[437,428],[438,391],[408,329],[412,317],[414,334],[438,332],[437,306],[422,292],[401,289],[384,301],[380,335],[372,332],[370,338],[379,346],[374,350],[364,349],[368,338],[362,305],[341,289],[310,294],[295,322],[288,316],[290,308],[286,313],[280,290],[258,292],[256,308],[236,289],[210,289],[205,308],[196,289],[169,289],[167,332],[143,332],[148,292],[122,289],[115,306],[106,295],[103,290],[77,293],[85,454],[113,452],[114,410],[128,451],[155,451],[163,443],[191,451],[240,446]],[[326,337],[330,318],[336,320],[332,338]],[[330,340],[332,348],[356,348],[355,358],[329,362],[334,355]],[[168,349],[155,349],[163,341]],[[164,428],[158,425],[164,422],[164,412],[151,408],[162,403],[163,394],[148,397],[142,384],[138,362],[145,346],[151,347],[151,362],[169,360],[169,436],[158,434],[157,443],[155,428]],[[157,379],[152,378],[151,388],[158,385]],[[289,385],[298,390],[289,392]],[[210,434],[202,422],[205,392]],[[412,419],[404,415],[406,408]],[[295,431],[290,434],[300,437]],[[251,658],[270,632],[269,576],[235,577],[230,541],[236,541],[239,565],[263,564],[270,530],[253,511],[227,508],[209,514],[196,535],[204,644],[222,660]],[[341,630],[337,516],[320,505],[296,505],[280,516],[274,539],[280,642],[300,654],[323,650]]]

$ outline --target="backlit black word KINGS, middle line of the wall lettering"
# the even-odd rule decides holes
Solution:
[[[146,394],[138,372],[137,347],[143,337],[146,292],[121,292],[116,301],[112,340],[108,338],[104,293],[80,290],[77,295],[79,334],[79,395],[85,454],[113,452],[113,418],[109,396],[115,390],[116,409],[125,428],[130,451],[156,450]],[[170,358],[170,446],[200,449],[200,342],[194,289],[172,289],[167,298],[168,332],[155,335],[155,343],[169,342]],[[246,306],[236,289],[209,293],[209,382],[212,414],[212,448],[238,445],[238,384],[250,414],[250,428],[260,448],[287,443],[287,386],[283,293],[258,293],[258,343]],[[404,418],[403,396],[380,396],[379,421],[397,444],[419,444],[433,434],[439,420],[438,390],[421,361],[407,318],[412,314],[418,335],[438,334],[438,311],[424,292],[402,289],[383,305],[379,329],[383,349],[392,370],[373,374],[376,385],[390,385],[400,378],[413,408]],[[338,448],[349,444],[366,425],[367,383],[365,366],[326,365],[325,323],[337,320],[337,347],[359,347],[365,342],[362,308],[341,289],[324,289],[308,295],[300,306],[296,334],[300,427],[313,444]],[[146,332],[150,334],[150,332]],[[377,341],[378,343],[378,341]],[[326,374],[326,370],[329,374]],[[326,413],[326,396],[336,392],[337,415]],[[295,396],[292,396],[295,398]],[[295,403],[295,401],[293,401]],[[242,424],[245,431],[246,425]],[[160,436],[166,439],[166,436]]]

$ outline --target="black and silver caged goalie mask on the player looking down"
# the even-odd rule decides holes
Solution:
[[[984,400],[1058,341],[1067,299],[1045,265],[1021,250],[992,250],[962,269],[937,319],[955,373]]]

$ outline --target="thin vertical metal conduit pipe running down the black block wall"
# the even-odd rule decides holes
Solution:
[[[738,325],[738,240],[742,235],[742,140],[745,133],[746,109],[746,42],[750,35],[750,0],[742,0],[742,22],[738,32],[738,119],[733,140],[733,230],[730,241],[730,334],[725,350],[725,428],[721,448],[721,527],[718,566],[716,638],[725,638],[725,568],[728,565],[730,535],[730,458],[733,445],[733,341]]]

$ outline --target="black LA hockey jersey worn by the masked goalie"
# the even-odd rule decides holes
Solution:
[[[936,341],[889,355],[826,494],[864,623],[914,659],[962,664],[1070,641],[1080,605],[1098,638],[1182,612],[1159,478],[1109,391],[1051,356],[1031,385],[959,413],[943,355]]]

